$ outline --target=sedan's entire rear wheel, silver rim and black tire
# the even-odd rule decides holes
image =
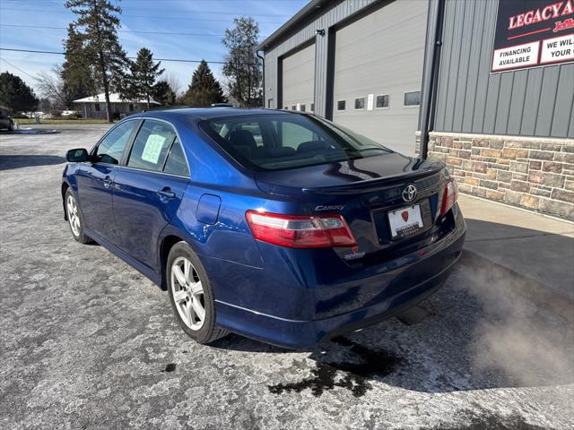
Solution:
[[[225,336],[228,332],[215,325],[215,302],[207,273],[185,242],[173,245],[166,269],[171,308],[183,331],[202,344]]]

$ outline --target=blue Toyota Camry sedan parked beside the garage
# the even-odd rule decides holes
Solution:
[[[319,116],[152,111],[66,159],[74,239],[167,289],[199,343],[308,348],[378,323],[439,288],[465,240],[442,163]]]

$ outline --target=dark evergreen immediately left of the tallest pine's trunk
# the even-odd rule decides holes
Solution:
[[[69,99],[82,99],[98,92],[94,67],[84,47],[83,34],[68,26],[68,35],[64,40],[65,61],[59,72],[63,82],[63,93]]]

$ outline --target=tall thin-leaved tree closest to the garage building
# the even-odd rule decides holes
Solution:
[[[242,106],[257,107],[262,104],[261,60],[257,56],[259,26],[253,18],[236,18],[235,28],[225,30],[223,45],[229,54],[223,65],[223,75],[228,79],[229,95]]]

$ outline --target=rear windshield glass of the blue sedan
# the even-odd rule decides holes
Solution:
[[[392,152],[369,138],[310,115],[216,118],[201,129],[244,167],[283,170]]]

